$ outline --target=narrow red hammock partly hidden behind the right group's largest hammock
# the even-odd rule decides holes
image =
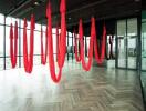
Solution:
[[[79,56],[77,54],[77,52],[80,52],[80,51],[77,51],[77,48],[79,48],[79,46],[77,46],[77,36],[76,36],[76,33],[75,33],[75,30],[74,30],[74,32],[73,32],[73,37],[74,37],[74,52],[75,52],[75,60],[76,60],[76,62],[80,62],[81,61],[81,54]],[[80,49],[79,49],[80,50]]]

